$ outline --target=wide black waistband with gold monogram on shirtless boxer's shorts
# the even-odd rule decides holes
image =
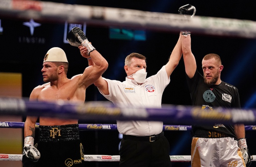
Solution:
[[[78,124],[39,126],[39,141],[79,140]]]

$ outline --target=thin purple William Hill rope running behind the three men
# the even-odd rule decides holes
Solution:
[[[24,122],[1,122],[0,128],[24,128]],[[36,128],[39,128],[39,123],[36,123]],[[78,124],[80,130],[117,130],[116,124]],[[256,125],[245,125],[245,130],[256,130]],[[192,130],[189,125],[163,125],[163,130],[166,131],[186,131]]]

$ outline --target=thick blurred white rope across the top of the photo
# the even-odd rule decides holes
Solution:
[[[55,2],[1,0],[0,16],[56,22],[86,22],[86,24],[99,26],[131,27],[154,31],[189,29],[198,34],[256,38],[256,22],[252,20],[204,16],[194,16],[193,19],[189,19],[180,14]]]

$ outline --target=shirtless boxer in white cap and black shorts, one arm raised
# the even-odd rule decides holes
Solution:
[[[72,44],[83,45],[93,61],[83,74],[67,78],[68,61],[61,48],[51,48],[43,61],[43,85],[33,89],[30,101],[54,102],[62,100],[83,104],[86,88],[107,69],[107,61],[88,42],[80,29],[73,29],[69,36]],[[78,39],[79,38],[79,39]],[[36,111],[35,111],[36,112]],[[80,141],[78,119],[40,117],[37,146],[34,147],[35,123],[38,117],[27,116],[24,124],[24,150],[22,163],[25,167],[84,166],[83,145]]]

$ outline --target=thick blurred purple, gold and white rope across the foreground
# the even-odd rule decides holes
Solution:
[[[138,112],[138,110],[140,112]],[[36,111],[36,112],[35,112]],[[188,125],[194,123],[256,124],[256,109],[226,109],[205,111],[197,106],[163,105],[162,108],[116,107],[109,101],[74,104],[64,101],[40,102],[25,99],[0,98],[0,115],[51,116],[80,120],[147,120]]]

